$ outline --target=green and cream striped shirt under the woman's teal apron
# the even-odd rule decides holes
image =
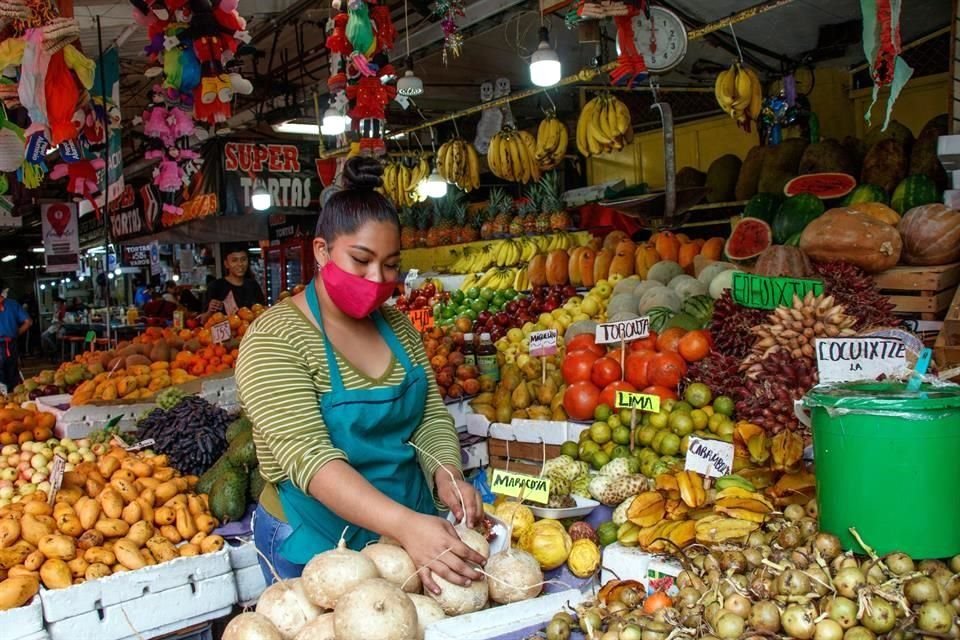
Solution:
[[[396,309],[384,307],[382,311],[411,361],[426,370],[426,406],[411,440],[432,455],[418,453],[432,487],[439,464],[460,468],[456,429],[440,398],[420,335]],[[345,389],[375,389],[403,380],[403,366],[395,357],[384,375],[373,379],[339,351],[335,356]],[[253,423],[260,473],[270,483],[262,502],[268,511],[280,515],[275,485],[290,479],[307,492],[324,464],[338,459],[349,462],[347,455],[334,447],[320,410],[320,396],[331,389],[323,336],[291,301],[282,302],[258,318],[244,336],[236,378],[240,402]]]

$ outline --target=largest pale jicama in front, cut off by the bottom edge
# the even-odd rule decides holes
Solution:
[[[395,585],[374,578],[343,594],[333,624],[337,640],[416,640],[417,608]]]

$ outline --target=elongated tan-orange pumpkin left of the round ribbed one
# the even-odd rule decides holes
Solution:
[[[812,260],[841,260],[877,273],[900,260],[903,242],[894,227],[846,207],[830,209],[800,236],[800,249]]]

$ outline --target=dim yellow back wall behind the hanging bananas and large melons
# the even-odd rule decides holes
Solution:
[[[949,87],[947,74],[910,81],[894,106],[894,119],[908,126],[914,135],[919,134],[927,121],[946,112]],[[874,107],[874,123],[883,122],[887,95],[886,91],[880,94]],[[820,119],[821,137],[839,140],[850,135],[863,137],[867,128],[863,113],[870,104],[870,90],[851,92],[847,71],[818,69],[810,102]],[[677,125],[674,135],[678,171],[692,166],[705,172],[718,157],[733,153],[743,158],[758,143],[756,132],[744,132],[726,115]],[[590,184],[622,179],[628,185],[646,182],[651,187],[662,188],[662,132],[658,129],[637,135],[633,144],[623,151],[590,158],[587,177]]]

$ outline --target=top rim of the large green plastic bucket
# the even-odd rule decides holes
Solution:
[[[924,383],[907,391],[904,382],[843,382],[817,386],[803,398],[804,406],[854,411],[930,411],[960,409],[960,385]]]

